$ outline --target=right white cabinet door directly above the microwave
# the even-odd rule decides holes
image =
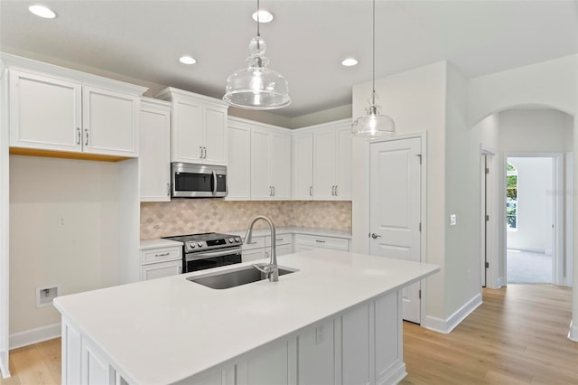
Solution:
[[[204,108],[204,154],[207,164],[227,164],[227,108]]]

